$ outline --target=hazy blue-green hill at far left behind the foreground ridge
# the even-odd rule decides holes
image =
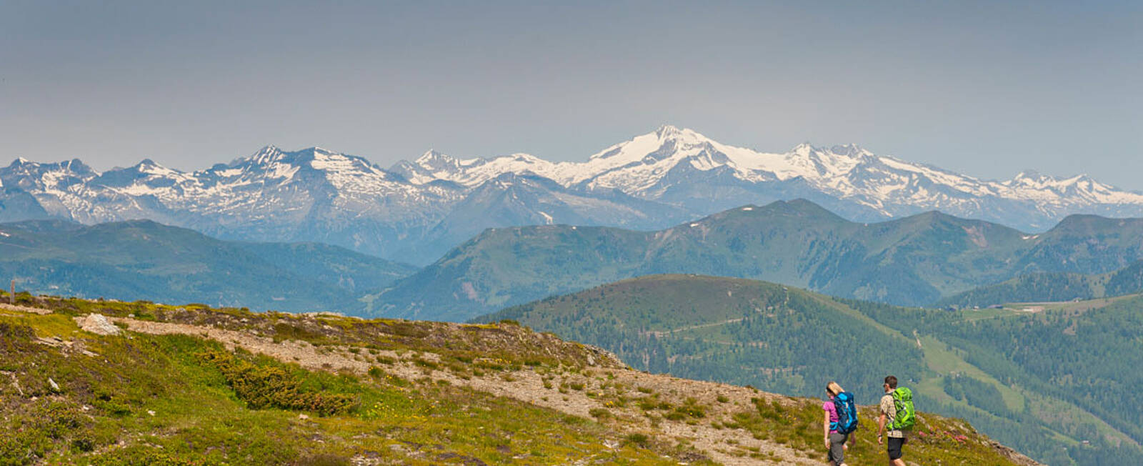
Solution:
[[[149,220],[0,224],[0,281],[53,295],[355,312],[410,266],[313,243],[219,241]]]

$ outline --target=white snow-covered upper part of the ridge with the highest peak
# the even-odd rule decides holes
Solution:
[[[784,153],[767,153],[721,144],[671,124],[608,146],[583,162],[552,163],[527,154],[459,160],[430,151],[392,170],[415,184],[443,179],[469,188],[505,172],[537,175],[565,187],[617,190],[653,201],[670,198],[671,190],[685,190],[695,183],[745,183],[759,188],[770,183],[799,183],[799,190],[846,200],[884,217],[930,209],[970,215],[957,209],[980,209],[980,199],[1057,206],[1135,202],[1086,177],[1064,180],[1025,174],[1010,182],[986,182],[877,155],[856,144],[814,146],[807,142]],[[719,187],[710,186],[708,191]]]

